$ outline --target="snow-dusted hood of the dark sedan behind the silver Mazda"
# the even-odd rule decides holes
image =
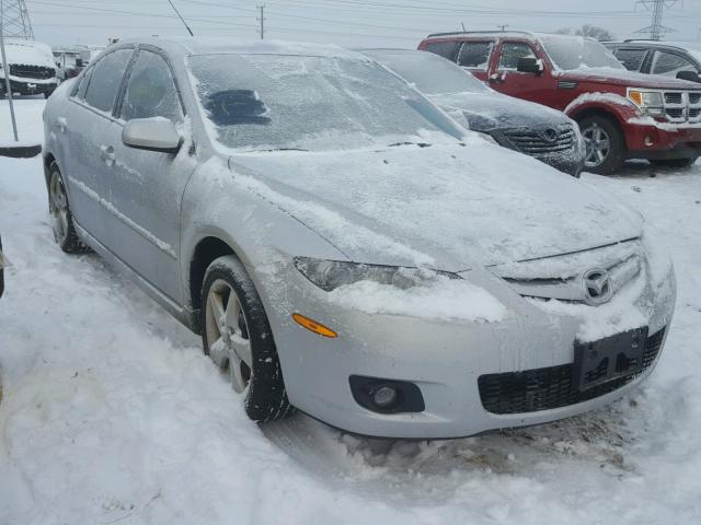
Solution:
[[[473,131],[484,133],[570,122],[560,112],[498,93],[455,93],[430,95],[429,98],[458,121],[461,121],[460,116],[467,118]]]

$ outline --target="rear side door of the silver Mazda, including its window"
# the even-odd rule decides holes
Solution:
[[[66,136],[62,165],[73,217],[99,242],[105,235],[103,138],[114,120],[112,109],[134,48],[118,49],[102,57],[85,71],[65,114],[56,119]]]

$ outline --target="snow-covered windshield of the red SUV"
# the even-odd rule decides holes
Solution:
[[[625,69],[601,43],[582,36],[541,35],[548,56],[558,69]]]

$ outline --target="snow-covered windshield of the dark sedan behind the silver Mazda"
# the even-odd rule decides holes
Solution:
[[[427,51],[360,51],[394,71],[427,95],[486,93],[490,89],[471,73]]]

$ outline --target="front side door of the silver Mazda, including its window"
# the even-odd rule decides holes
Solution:
[[[118,120],[101,144],[114,154],[107,178],[107,248],[141,278],[181,304],[180,206],[195,162],[185,145],[177,154],[129,148],[124,125],[136,118],[168,118],[184,126],[185,112],[166,56],[140,48],[127,73]]]

